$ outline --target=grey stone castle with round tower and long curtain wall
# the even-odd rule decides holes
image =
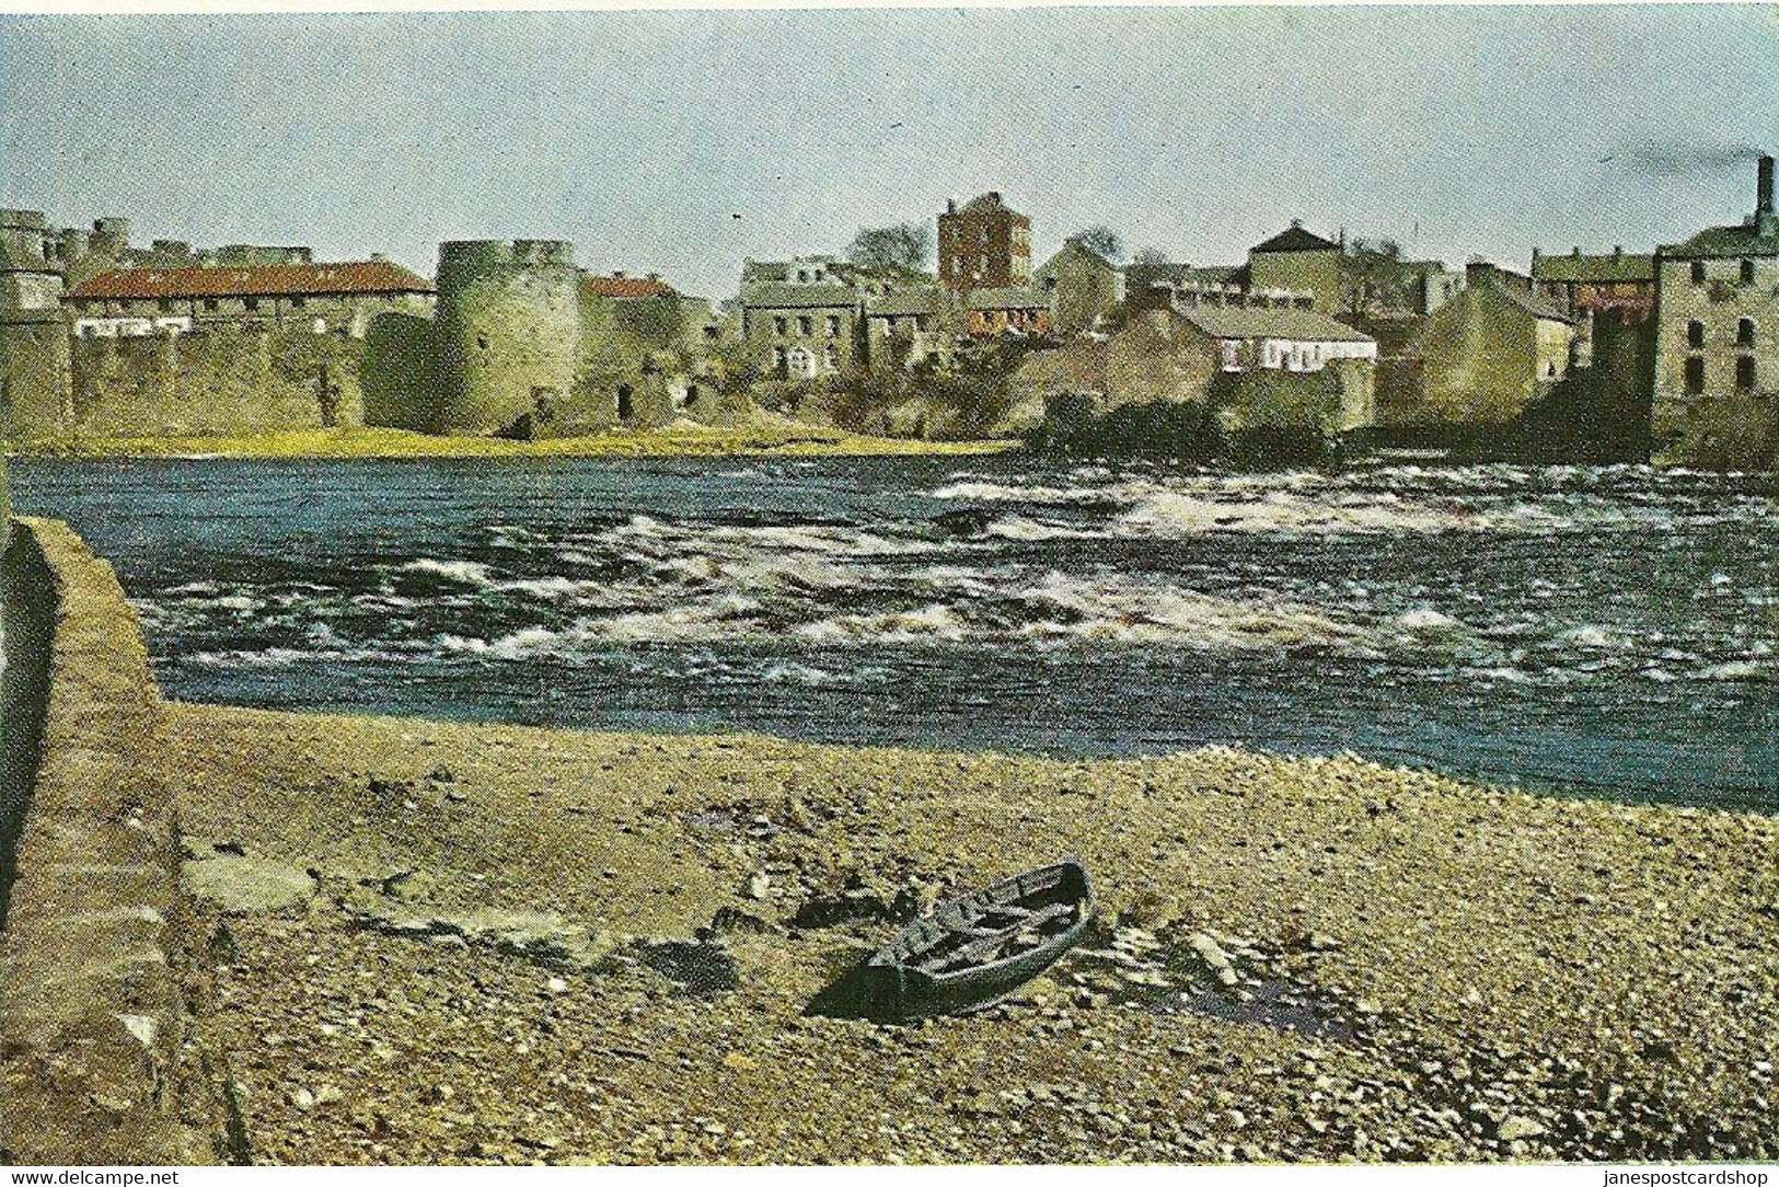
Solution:
[[[130,246],[0,212],[0,434],[388,425],[550,436],[720,420],[706,301],[591,276],[560,240],[439,246],[438,285],[381,256]]]

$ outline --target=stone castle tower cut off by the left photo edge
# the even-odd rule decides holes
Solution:
[[[69,416],[68,327],[53,233],[36,210],[0,210],[0,434]]]

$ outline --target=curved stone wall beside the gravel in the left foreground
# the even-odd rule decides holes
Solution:
[[[135,612],[68,527],[12,523],[7,664],[37,683],[43,723],[0,838],[14,872],[0,1160],[206,1162],[215,1112],[185,1041],[176,829],[165,788],[132,762],[160,728]]]

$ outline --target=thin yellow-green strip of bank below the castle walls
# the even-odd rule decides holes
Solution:
[[[1018,441],[920,441],[761,420],[737,427],[676,422],[648,432],[505,441],[404,429],[302,429],[258,436],[62,438],[25,441],[18,457],[879,457],[994,454]]]

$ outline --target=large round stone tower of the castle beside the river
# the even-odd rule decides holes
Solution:
[[[439,432],[546,424],[575,384],[580,274],[562,240],[439,244]]]

